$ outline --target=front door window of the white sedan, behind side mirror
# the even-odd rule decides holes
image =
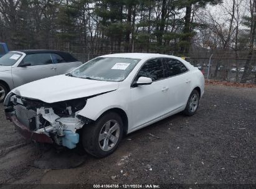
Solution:
[[[164,70],[161,58],[148,60],[138,72],[135,80],[141,76],[151,78],[152,81],[161,80],[164,78]]]

